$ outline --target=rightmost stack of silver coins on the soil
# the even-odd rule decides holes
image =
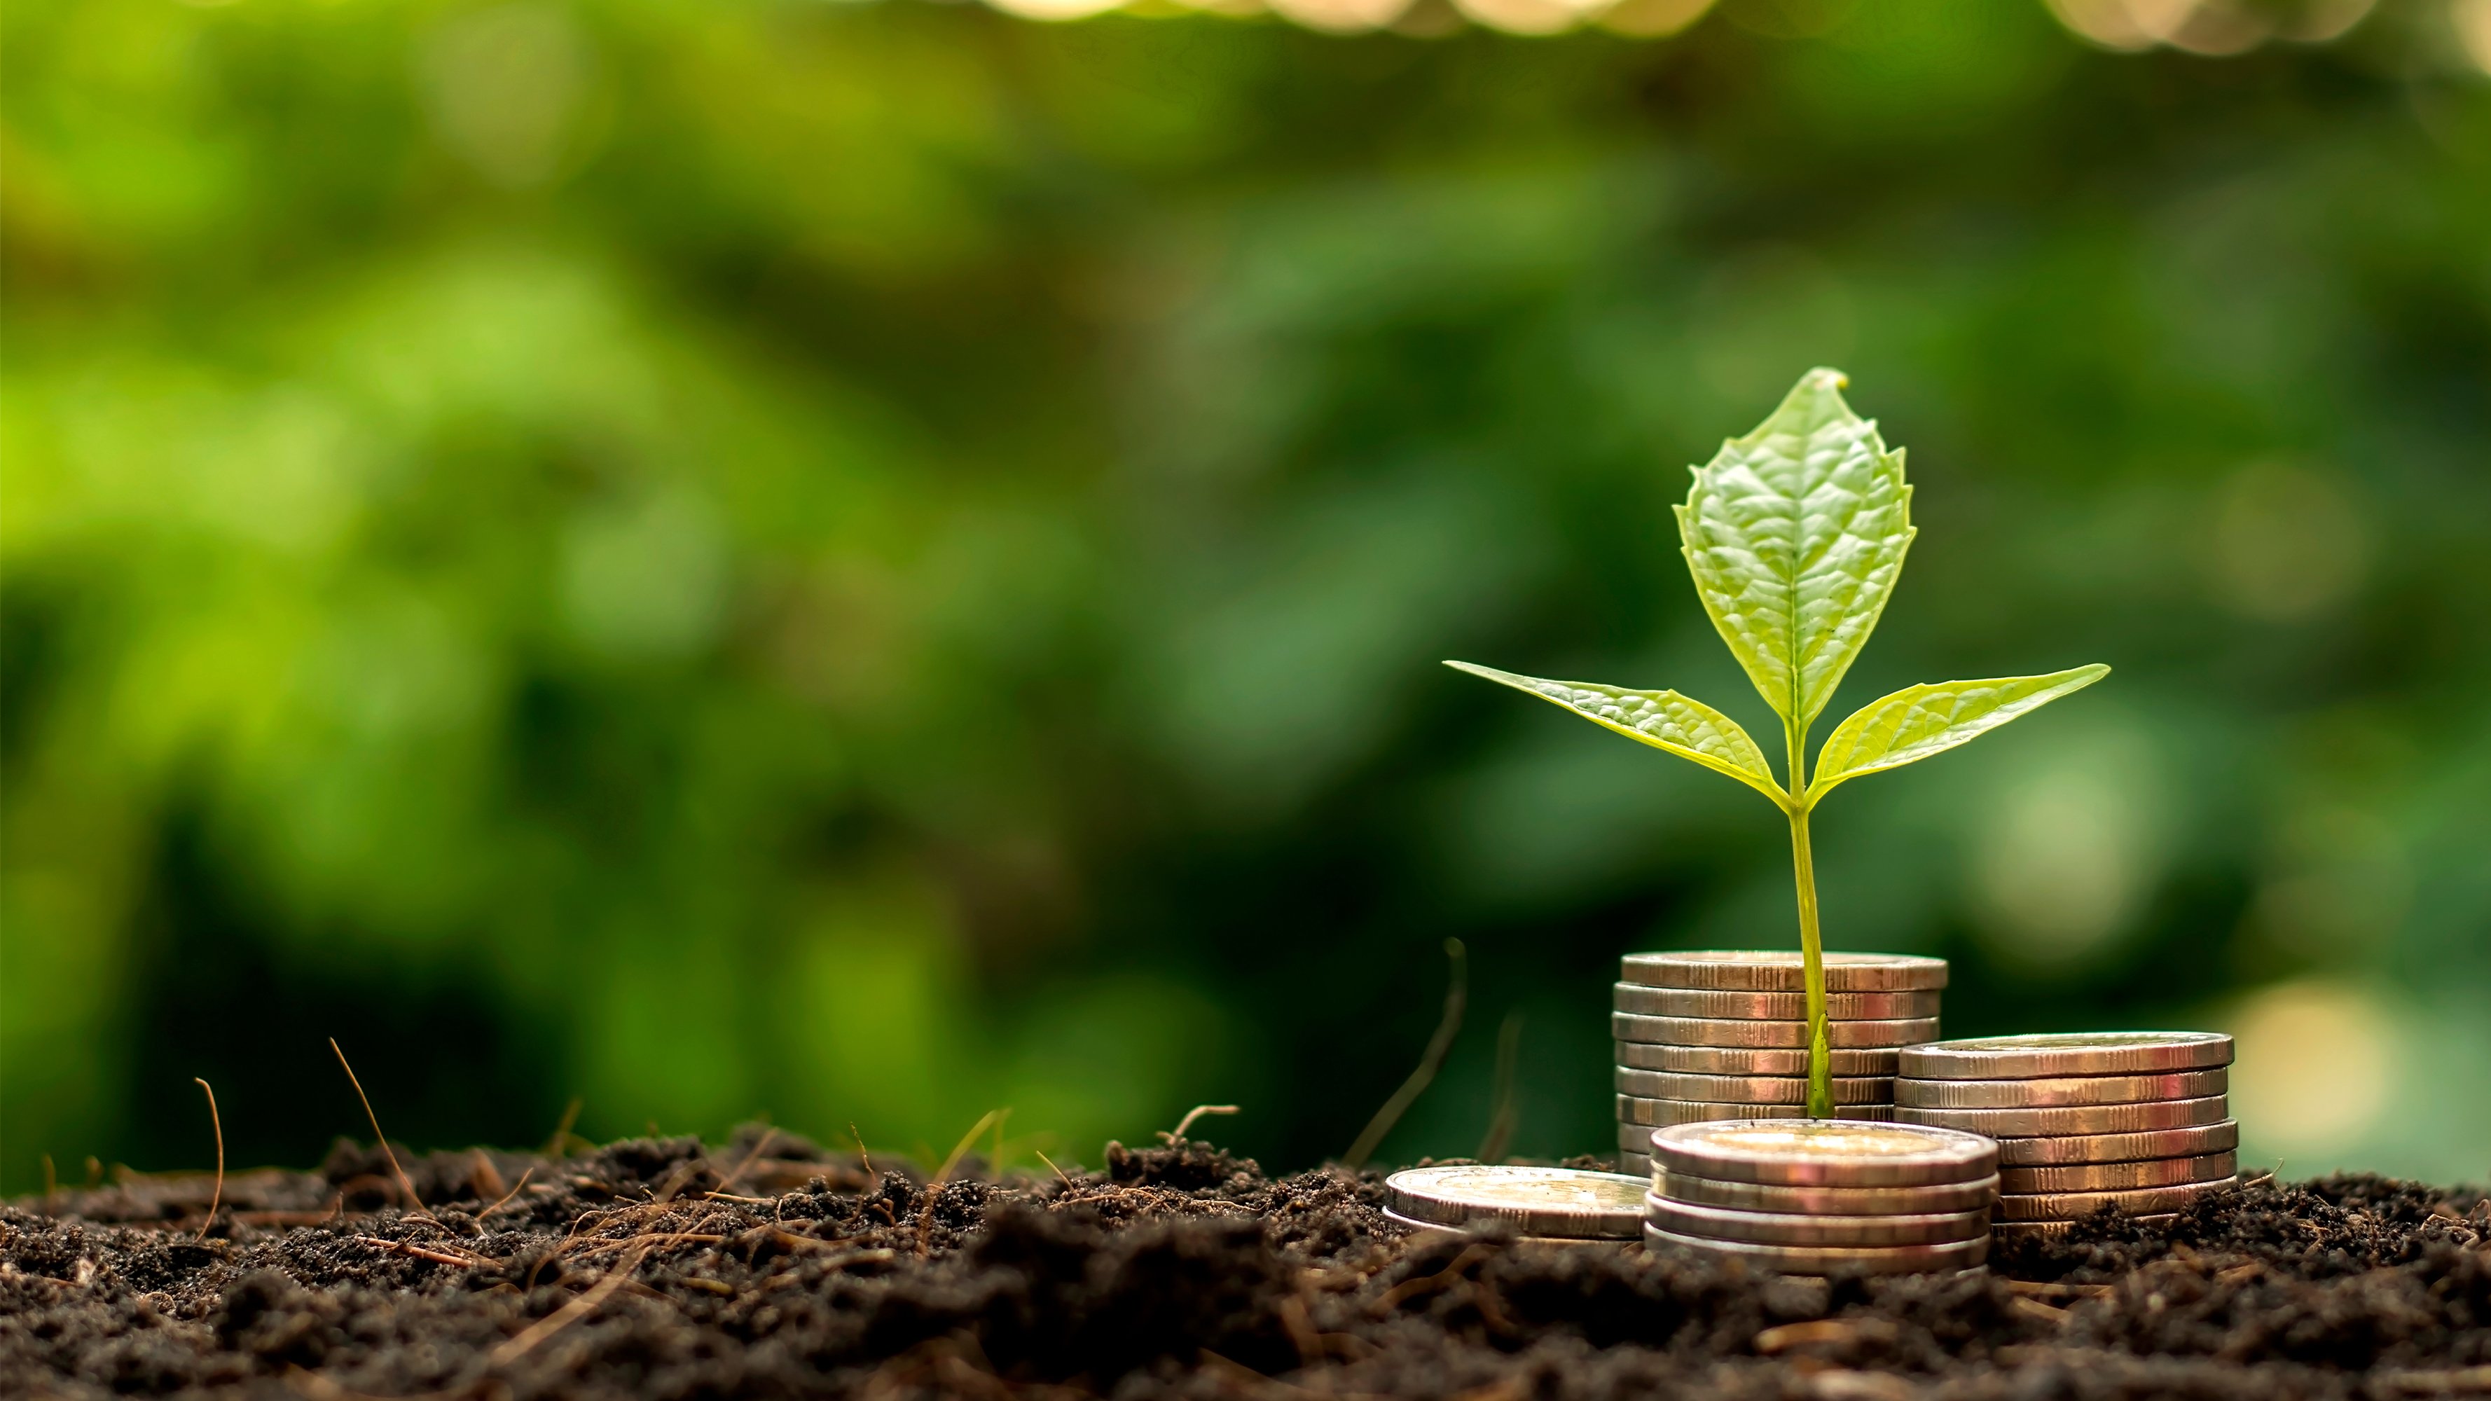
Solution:
[[[1911,1047],[1893,1117],[1998,1139],[1998,1231],[2058,1234],[2110,1207],[2167,1219],[2237,1182],[2232,1037],[2077,1032]]]

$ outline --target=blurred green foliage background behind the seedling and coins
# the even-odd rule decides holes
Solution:
[[[12,2],[0,1182],[314,1162],[329,1035],[433,1147],[1303,1167],[1447,935],[1383,1157],[1507,1025],[1599,1152],[1786,833],[1437,658],[1761,725],[1666,506],[1811,364],[1923,526],[1836,713],[2117,668],[1828,803],[1831,947],[2491,1177],[2491,0],[1228,10]]]

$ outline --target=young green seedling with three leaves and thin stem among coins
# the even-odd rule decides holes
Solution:
[[[1721,444],[1709,464],[1694,469],[1694,491],[1676,509],[1696,596],[1781,718],[1786,783],[1774,780],[1764,750],[1736,720],[1676,691],[1539,681],[1467,661],[1445,663],[1726,773],[1781,808],[1791,820],[1799,877],[1808,1117],[1816,1119],[1833,1117],[1833,1077],[1808,813],[1863,773],[1950,750],[2110,673],[2107,666],[2077,666],[2050,676],[1906,686],[1836,725],[1816,753],[1816,775],[1808,775],[1808,725],[1868,643],[1916,533],[1903,449],[1886,451],[1876,424],[1843,404],[1843,384],[1841,371],[1811,369],[1756,431]]]

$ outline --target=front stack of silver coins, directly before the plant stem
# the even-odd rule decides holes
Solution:
[[[1973,1269],[1990,1254],[1998,1144],[1841,1119],[1739,1119],[1652,1134],[1644,1244],[1781,1274]]]

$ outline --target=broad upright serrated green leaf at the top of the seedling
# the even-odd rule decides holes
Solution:
[[[1801,730],[1876,631],[1911,548],[1903,451],[1811,369],[1774,416],[1699,469],[1679,506],[1686,568],[1766,705]]]

